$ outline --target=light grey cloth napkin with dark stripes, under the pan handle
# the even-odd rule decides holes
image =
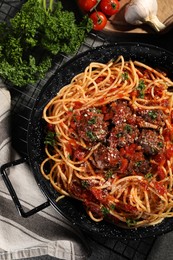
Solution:
[[[11,147],[9,130],[10,93],[0,82],[0,166],[19,158]],[[26,210],[45,202],[26,165],[12,167],[8,174]],[[0,175],[0,260],[39,256],[87,259],[88,249],[83,241],[83,235],[51,206],[31,217],[21,217]]]

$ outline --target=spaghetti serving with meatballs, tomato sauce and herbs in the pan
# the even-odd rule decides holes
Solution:
[[[45,106],[40,168],[96,222],[155,225],[173,217],[173,82],[119,56],[92,62]]]

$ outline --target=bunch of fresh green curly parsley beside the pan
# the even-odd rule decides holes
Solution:
[[[0,76],[15,86],[44,78],[59,53],[80,47],[92,22],[77,23],[73,12],[54,0],[28,0],[9,23],[0,23]]]

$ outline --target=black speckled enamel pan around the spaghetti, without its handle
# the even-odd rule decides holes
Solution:
[[[49,82],[44,86],[38,96],[31,113],[28,127],[28,156],[34,176],[39,187],[42,189],[50,204],[74,225],[92,234],[112,238],[144,238],[156,236],[173,230],[173,218],[165,219],[161,224],[145,228],[124,229],[105,221],[95,223],[85,213],[82,204],[71,198],[64,198],[56,203],[59,194],[47,182],[40,172],[40,163],[44,158],[44,123],[42,110],[47,102],[62,88],[68,84],[72,77],[83,69],[91,61],[106,63],[112,58],[123,55],[125,59],[136,59],[154,68],[160,68],[168,73],[173,79],[173,54],[166,50],[146,44],[119,43],[98,47],[89,50],[62,66]]]

